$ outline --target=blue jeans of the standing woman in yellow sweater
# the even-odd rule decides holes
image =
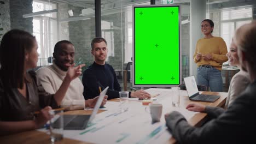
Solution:
[[[197,85],[210,87],[212,92],[223,91],[222,72],[214,67],[206,68],[199,66],[197,68]]]

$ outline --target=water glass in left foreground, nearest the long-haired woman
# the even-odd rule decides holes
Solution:
[[[63,110],[50,110],[50,139],[56,142],[63,139]]]

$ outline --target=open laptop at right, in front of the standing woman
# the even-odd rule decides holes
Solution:
[[[184,82],[190,100],[214,102],[220,97],[218,95],[199,94],[194,76],[185,77]]]

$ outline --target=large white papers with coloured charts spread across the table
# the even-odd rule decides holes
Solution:
[[[120,111],[119,102],[108,101],[107,111],[98,113],[88,128],[64,130],[64,137],[92,143],[166,143],[171,134],[165,125],[165,113],[176,110],[189,120],[197,112],[173,107],[171,89],[150,88],[147,91],[159,94],[158,103],[164,106],[159,123],[152,124],[149,107],[138,101],[129,101],[126,112]]]

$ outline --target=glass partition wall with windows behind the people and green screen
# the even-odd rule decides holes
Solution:
[[[182,78],[195,75],[190,73],[190,61],[193,61],[190,53],[194,53],[190,45],[190,6],[195,1],[198,0],[174,1],[174,4],[181,5]],[[235,30],[253,20],[255,15],[255,1],[204,2],[206,18],[212,19],[215,24],[213,35],[222,37],[228,46]],[[155,4],[163,3],[166,1],[155,0]],[[121,87],[128,91],[131,90],[132,5],[137,4],[150,5],[150,1],[101,0],[101,35],[108,43],[107,63],[115,69]],[[85,63],[88,67],[94,62],[90,43],[95,38],[95,25],[94,0],[0,1],[0,40],[5,32],[14,28],[35,35],[39,46],[38,67],[51,64],[54,45],[60,40],[71,41],[75,47],[75,62]],[[163,23],[163,26],[168,26],[168,23]],[[156,66],[152,65],[149,69]]]

